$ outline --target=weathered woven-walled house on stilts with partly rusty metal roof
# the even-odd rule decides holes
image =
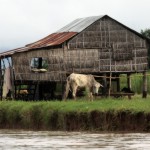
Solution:
[[[130,87],[132,73],[145,75],[147,58],[147,39],[138,32],[108,15],[79,18],[35,43],[0,53],[1,97],[6,62],[15,99],[21,99],[18,92],[26,88],[27,99],[46,99],[48,93],[50,99],[56,83],[64,85],[72,72],[101,77],[97,80],[105,86],[103,94],[111,83],[108,77],[120,91],[119,76],[127,74]]]

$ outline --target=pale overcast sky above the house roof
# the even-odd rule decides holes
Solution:
[[[0,52],[44,38],[74,19],[105,14],[138,32],[150,28],[150,0],[0,0]]]

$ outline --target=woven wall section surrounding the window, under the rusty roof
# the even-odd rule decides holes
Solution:
[[[48,60],[47,72],[31,71],[31,60],[35,57],[43,57]],[[12,60],[16,80],[64,81],[66,79],[62,49],[16,53],[12,56]]]

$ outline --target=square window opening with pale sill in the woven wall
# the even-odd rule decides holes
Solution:
[[[47,58],[35,57],[31,59],[31,70],[34,72],[46,72],[48,69]]]

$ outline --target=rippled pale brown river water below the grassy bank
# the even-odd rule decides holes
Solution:
[[[0,150],[149,150],[150,133],[0,130]]]

